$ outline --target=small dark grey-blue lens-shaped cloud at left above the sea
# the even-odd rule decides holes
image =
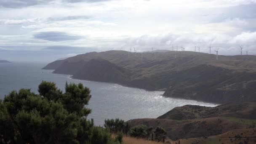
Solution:
[[[59,42],[67,40],[79,40],[82,37],[78,35],[70,35],[66,32],[40,32],[35,34],[34,38]]]

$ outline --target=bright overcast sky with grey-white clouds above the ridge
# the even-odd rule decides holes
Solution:
[[[0,59],[91,51],[256,54],[256,0],[0,0]]]

